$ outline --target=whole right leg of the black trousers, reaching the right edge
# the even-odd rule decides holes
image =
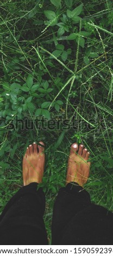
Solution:
[[[83,187],[68,184],[56,198],[52,221],[53,245],[112,245],[113,214],[91,204]]]

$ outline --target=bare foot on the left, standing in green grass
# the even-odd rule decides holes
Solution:
[[[43,142],[39,142],[45,146]],[[45,168],[45,154],[44,148],[37,145],[29,145],[26,154],[23,157],[22,172],[23,172],[23,185],[26,186],[32,182],[42,182],[43,172]]]

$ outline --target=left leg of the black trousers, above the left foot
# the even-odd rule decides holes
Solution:
[[[33,182],[22,187],[5,206],[0,222],[1,245],[48,245],[43,222],[45,195]]]

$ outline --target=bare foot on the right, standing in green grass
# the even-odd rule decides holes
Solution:
[[[78,151],[78,153],[77,153]],[[89,160],[90,153],[84,149],[84,145],[77,143],[71,145],[70,156],[68,158],[66,185],[68,182],[77,182],[80,186],[87,182],[90,173],[91,162]]]

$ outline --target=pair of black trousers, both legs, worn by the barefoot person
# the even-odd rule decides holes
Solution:
[[[45,194],[33,182],[5,206],[0,220],[1,245],[48,245],[43,222]],[[76,182],[60,188],[53,209],[52,245],[112,245],[113,214],[92,204]]]

